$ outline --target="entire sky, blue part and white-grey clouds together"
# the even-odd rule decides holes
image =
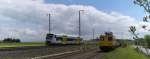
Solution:
[[[51,13],[52,33],[78,35],[78,11],[81,12],[81,35],[84,39],[112,31],[117,38],[132,38],[129,26],[141,29],[145,15],[133,0],[0,0],[0,39],[20,38],[23,42],[45,41],[48,33],[48,13]]]

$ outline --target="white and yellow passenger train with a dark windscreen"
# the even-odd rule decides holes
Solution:
[[[46,35],[46,45],[80,45],[82,44],[82,38],[73,37],[67,35],[56,35],[47,34]]]

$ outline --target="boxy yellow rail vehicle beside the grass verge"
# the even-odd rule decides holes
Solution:
[[[105,32],[105,34],[100,35],[98,46],[102,51],[110,51],[119,47],[120,43],[113,35],[113,32]]]

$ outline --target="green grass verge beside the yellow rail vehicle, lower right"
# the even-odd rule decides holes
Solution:
[[[108,52],[102,59],[150,59],[149,57],[138,53],[131,47],[117,48]]]

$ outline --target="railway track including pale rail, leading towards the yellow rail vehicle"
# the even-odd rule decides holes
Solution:
[[[46,55],[31,59],[99,59],[104,53],[99,52],[97,48],[87,50],[69,51],[59,54]]]

